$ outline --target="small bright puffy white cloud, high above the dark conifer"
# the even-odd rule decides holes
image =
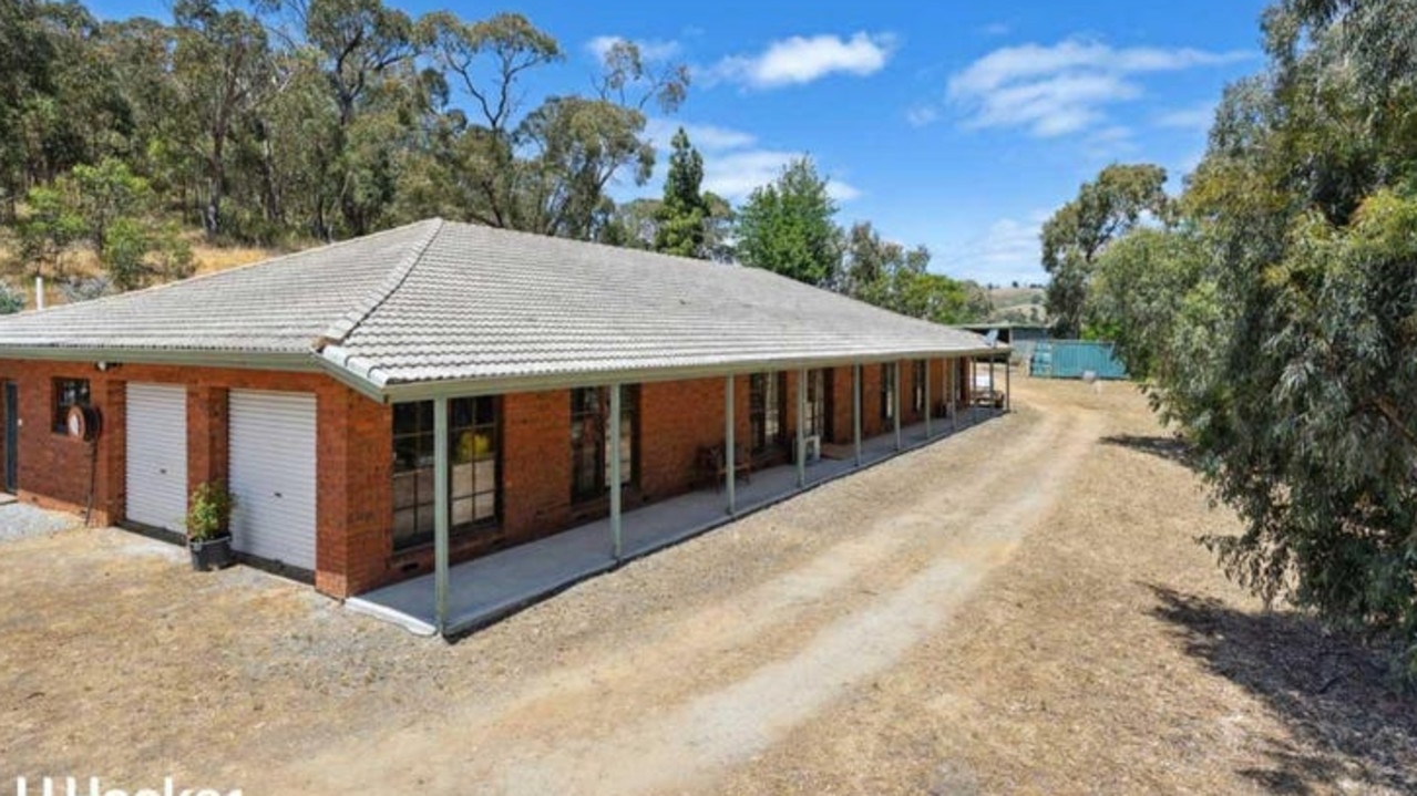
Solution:
[[[832,74],[866,76],[886,68],[894,50],[888,34],[794,35],[774,41],[757,55],[730,55],[710,69],[711,79],[741,82],[752,88],[781,88],[809,84]]]

